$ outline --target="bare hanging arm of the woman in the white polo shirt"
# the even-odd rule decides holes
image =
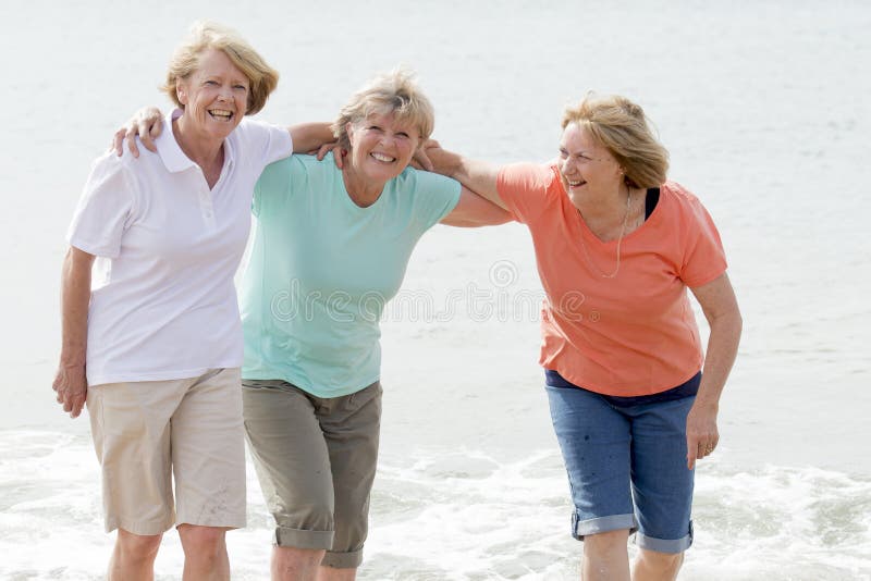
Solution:
[[[88,306],[90,304],[90,268],[94,255],[70,248],[63,259],[61,276],[62,338],[61,357],[52,388],[58,403],[70,417],[82,413],[87,397],[85,354],[88,342]]]

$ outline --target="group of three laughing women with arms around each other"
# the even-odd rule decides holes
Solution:
[[[87,401],[119,531],[109,578],[150,579],[173,524],[185,579],[229,577],[244,433],[275,519],[273,579],[354,579],[384,301],[434,224],[512,219],[531,231],[548,297],[541,363],[584,578],[628,579],[633,531],[633,578],[674,578],[740,316],[717,232],[666,181],[641,109],[588,97],[566,112],[555,162],[498,169],[429,140],[432,107],[407,73],[377,77],[332,125],[243,120],[277,81],[235,33],[195,25],[170,64],[164,131],[143,119],[151,151],[95,163],[70,226],[54,390],[74,417]],[[292,154],[333,140],[322,159]],[[686,288],[711,326],[704,360]]]

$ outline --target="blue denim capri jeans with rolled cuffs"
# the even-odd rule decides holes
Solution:
[[[579,387],[547,390],[575,505],[572,535],[628,529],[641,548],[686,551],[694,484],[686,422],[695,396],[615,405]]]

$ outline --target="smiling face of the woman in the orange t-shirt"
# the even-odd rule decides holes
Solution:
[[[623,183],[619,163],[577,123],[569,123],[560,141],[560,173],[575,206],[585,195],[614,191]]]

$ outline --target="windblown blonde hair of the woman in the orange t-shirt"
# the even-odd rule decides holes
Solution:
[[[668,173],[668,150],[659,143],[645,111],[626,97],[587,94],[577,107],[563,114],[563,128],[571,123],[604,146],[626,173],[631,187],[658,187]]]

